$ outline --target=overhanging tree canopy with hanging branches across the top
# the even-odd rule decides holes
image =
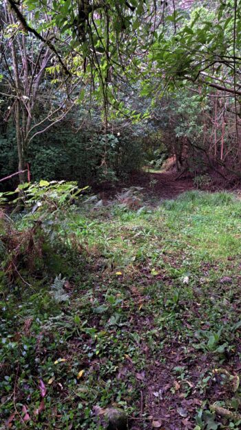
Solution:
[[[185,94],[194,111],[198,100],[199,115],[191,109],[182,133],[174,125],[175,139],[186,139],[212,167],[238,174],[240,6],[238,0],[5,0],[1,109],[4,122],[14,115],[19,170],[30,142],[76,109],[90,122],[95,111],[106,135],[121,121],[151,133],[165,130],[161,106]]]

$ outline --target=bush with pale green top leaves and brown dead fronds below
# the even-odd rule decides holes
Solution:
[[[12,221],[3,209],[0,212],[0,270],[8,283],[23,281],[21,272],[27,275],[41,273],[52,267],[63,269],[59,260],[62,250],[76,247],[69,220],[72,214],[70,203],[78,198],[82,189],[76,183],[40,183],[19,185],[25,202],[25,214]],[[8,192],[0,195],[0,203]],[[56,251],[56,253],[55,253]],[[63,270],[62,270],[63,271]],[[56,274],[56,273],[55,273]]]

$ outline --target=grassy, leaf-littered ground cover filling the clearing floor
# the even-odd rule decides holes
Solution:
[[[110,404],[134,430],[239,429],[240,218],[200,191],[72,209],[52,281],[1,289],[0,429],[101,430]]]

